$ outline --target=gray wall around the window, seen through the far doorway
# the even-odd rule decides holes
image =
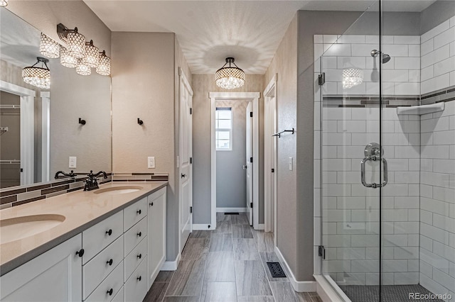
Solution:
[[[245,208],[247,177],[245,114],[247,101],[217,101],[217,107],[232,108],[232,150],[216,152],[216,207]]]

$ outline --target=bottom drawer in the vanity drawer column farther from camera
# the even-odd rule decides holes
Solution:
[[[125,282],[125,301],[142,301],[147,293],[147,257]]]

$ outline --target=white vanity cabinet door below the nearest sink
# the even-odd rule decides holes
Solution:
[[[0,300],[82,301],[81,248],[78,234],[1,276]]]

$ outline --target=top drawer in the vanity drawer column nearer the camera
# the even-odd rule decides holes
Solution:
[[[122,222],[123,211],[119,211],[82,232],[82,247],[84,247],[83,264],[87,263],[102,249],[122,235]]]

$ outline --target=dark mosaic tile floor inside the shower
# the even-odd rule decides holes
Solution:
[[[346,293],[346,296],[353,302],[379,302],[379,286],[378,285],[347,285],[340,286]],[[419,301],[419,302],[444,302],[439,299],[435,300],[417,300],[410,298],[410,293],[430,294],[420,284],[417,285],[383,285],[381,286],[381,302],[403,302],[403,301]]]

